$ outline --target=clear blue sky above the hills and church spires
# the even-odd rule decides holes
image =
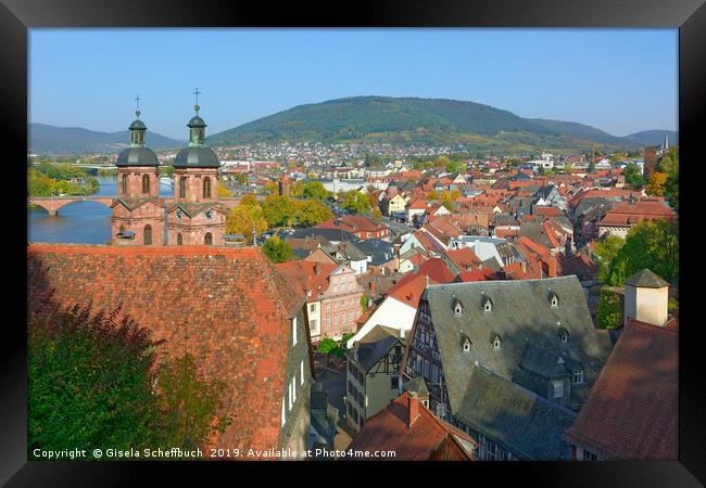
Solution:
[[[467,100],[614,136],[677,130],[677,29],[31,29],[29,120],[186,139],[355,95]],[[149,132],[148,132],[149,143]]]

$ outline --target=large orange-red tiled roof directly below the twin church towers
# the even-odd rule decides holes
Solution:
[[[289,349],[282,337],[304,297],[259,247],[31,244],[27,272],[31,313],[122,304],[121,317],[166,339],[167,355],[184,352],[188,330],[189,351],[206,376],[228,385],[232,424],[215,445],[277,447]]]

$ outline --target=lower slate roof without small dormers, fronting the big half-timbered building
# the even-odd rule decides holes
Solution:
[[[576,418],[572,411],[482,367],[469,370],[456,416],[525,460],[572,459],[571,446],[562,438]]]

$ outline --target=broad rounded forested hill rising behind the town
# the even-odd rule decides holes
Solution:
[[[640,143],[576,123],[528,119],[472,102],[353,97],[300,105],[211,136],[211,145],[314,141],[432,145],[474,151],[581,150]]]

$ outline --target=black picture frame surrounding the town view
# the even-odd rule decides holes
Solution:
[[[20,235],[26,219],[22,211],[12,208],[26,198],[26,172],[20,167],[25,160],[27,149],[27,29],[36,27],[671,27],[679,28],[679,140],[682,179],[680,221],[682,255],[701,256],[694,245],[697,241],[697,223],[689,219],[697,205],[689,191],[698,174],[698,124],[706,115],[706,5],[704,0],[593,0],[567,2],[562,0],[495,0],[469,3],[463,0],[427,2],[418,0],[395,0],[371,3],[304,5],[300,2],[265,4],[253,2],[240,4],[212,0],[199,2],[186,0],[3,0],[0,5],[0,66],[2,67],[2,104],[4,134],[4,168],[9,176],[4,191],[11,201],[5,216],[10,220],[5,228],[5,255],[11,272],[5,274],[5,310],[22,310],[15,304],[26,301],[25,290],[17,285],[22,277],[26,280],[26,268],[15,256],[26,255],[26,239]],[[204,47],[205,49],[206,47]],[[127,55],[126,49],[126,55]],[[645,66],[644,73],[630,76],[650,76],[660,66]],[[110,74],[106,74],[110,76]],[[182,68],[175,67],[169,76],[188,76]],[[620,74],[596,77],[596,82],[631,82],[620,79]],[[615,78],[614,78],[615,77]],[[16,166],[16,168],[15,168]],[[20,183],[15,182],[18,181]],[[24,192],[24,193],[23,193]],[[684,214],[685,213],[685,214]],[[686,215],[686,220],[684,220]],[[16,226],[16,227],[15,227]],[[16,243],[16,244],[15,244]],[[14,253],[14,246],[20,249]],[[685,254],[684,254],[685,251]],[[694,262],[686,258],[686,264]],[[10,269],[10,267],[9,267]],[[684,270],[682,269],[682,272]],[[605,463],[466,463],[431,466],[437,483],[450,483],[461,476],[464,483],[478,483],[481,477],[502,483],[508,475],[518,476],[520,483],[540,486],[702,486],[706,481],[706,450],[704,406],[704,355],[697,338],[698,322],[695,307],[698,298],[694,282],[695,270],[685,269],[680,286],[680,455],[678,462],[605,462]],[[691,274],[691,277],[690,277]],[[18,313],[22,316],[22,313]],[[241,476],[260,473],[276,473],[282,470],[297,473],[300,483],[338,484],[348,478],[367,483],[361,463],[348,476],[350,465],[324,463],[276,463],[276,466],[255,463],[224,464],[219,462],[193,463],[126,463],[126,462],[27,462],[26,459],[26,328],[22,317],[4,320],[4,341],[0,391],[2,395],[2,439],[0,445],[0,483],[7,486],[126,486],[146,483],[146,474],[156,474],[166,484],[167,479],[187,479],[188,474],[203,476],[225,474],[226,479],[242,481]],[[26,323],[26,322],[25,322]],[[655,422],[658,422],[655,419]],[[297,464],[297,466],[293,466]],[[285,466],[286,465],[286,466]],[[282,467],[285,466],[285,467]],[[129,467],[129,468],[128,468]],[[405,465],[402,468],[386,470],[384,473],[401,483],[421,483],[413,474],[430,467],[427,463]],[[234,477],[234,468],[237,477]],[[320,474],[326,468],[326,474]],[[331,471],[330,473],[328,471]],[[440,470],[443,470],[441,472]],[[243,472],[251,473],[243,473]],[[256,471],[254,473],[252,471]],[[452,473],[453,472],[453,473]],[[293,475],[293,473],[292,473]],[[333,478],[336,476],[336,478]],[[335,481],[332,479],[336,479]],[[264,478],[263,478],[264,480]],[[377,479],[379,480],[379,478]],[[151,481],[153,483],[153,481]],[[150,483],[150,484],[151,484]],[[297,483],[297,484],[300,484]],[[451,481],[453,483],[453,481]],[[250,484],[247,484],[250,485]]]

